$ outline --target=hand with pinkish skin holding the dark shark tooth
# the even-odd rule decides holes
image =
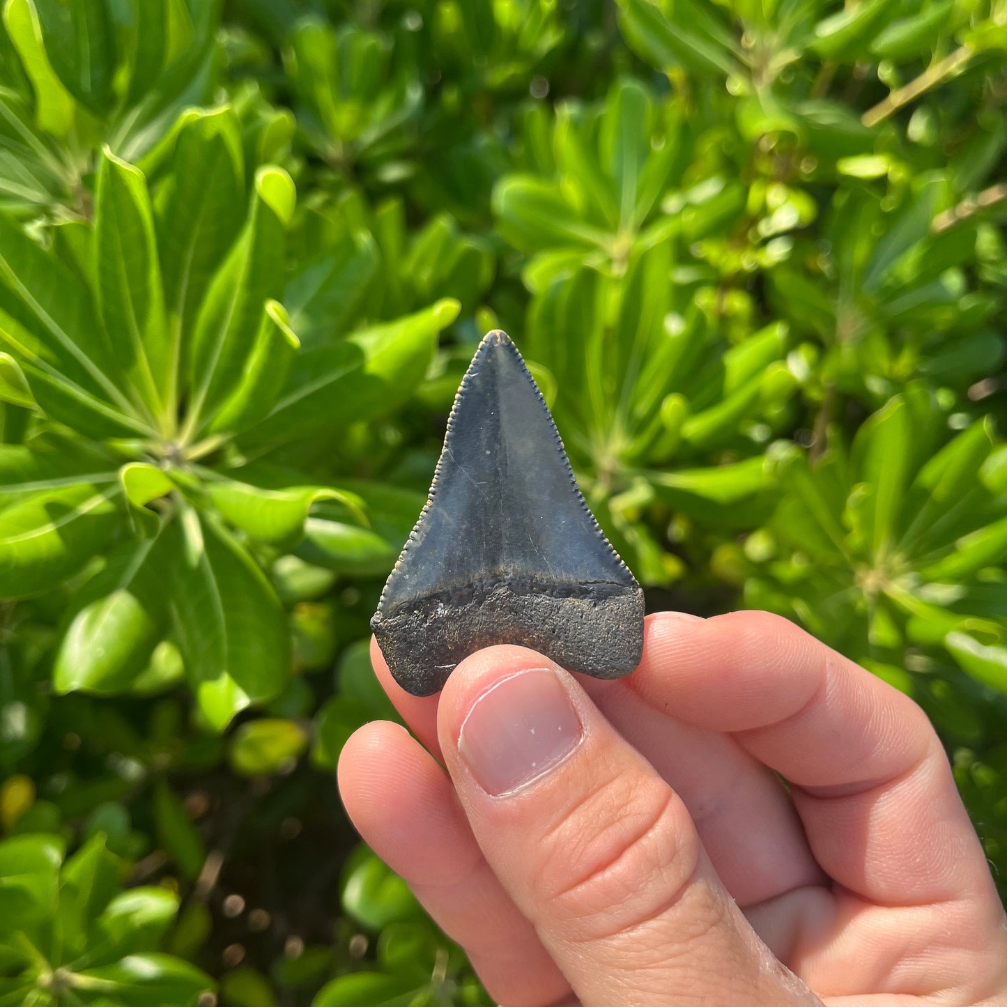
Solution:
[[[372,656],[432,754],[361,728],[346,810],[503,1007],[1007,1007],[929,721],[785,619],[650,616],[619,682],[494,646],[428,699]]]

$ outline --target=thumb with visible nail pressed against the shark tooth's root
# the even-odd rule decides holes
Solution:
[[[820,1004],[748,925],[678,796],[573,676],[524,648],[480,651],[448,680],[438,733],[486,860],[583,1007],[673,991]]]

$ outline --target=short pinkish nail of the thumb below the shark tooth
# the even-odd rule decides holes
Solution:
[[[472,704],[458,751],[479,785],[499,797],[549,772],[583,734],[570,695],[551,669],[502,679]]]

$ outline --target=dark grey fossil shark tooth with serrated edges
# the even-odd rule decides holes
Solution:
[[[462,379],[429,499],[371,627],[414,696],[492,643],[599,679],[639,664],[643,592],[588,510],[506,332],[485,336]]]

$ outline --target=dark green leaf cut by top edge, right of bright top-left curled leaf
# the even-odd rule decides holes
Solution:
[[[108,111],[116,70],[107,0],[34,0],[49,62],[66,90],[98,115]]]

